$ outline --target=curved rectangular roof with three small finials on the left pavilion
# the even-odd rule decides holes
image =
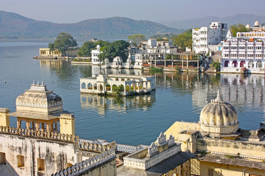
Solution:
[[[63,100],[59,95],[48,90],[43,84],[30,85],[30,89],[19,95],[16,99],[17,112],[29,112],[37,114],[52,114],[63,111]]]

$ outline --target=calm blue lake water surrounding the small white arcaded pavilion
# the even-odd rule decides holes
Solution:
[[[126,37],[121,37],[126,39]],[[105,40],[113,40],[106,38]],[[200,111],[215,99],[217,90],[237,110],[242,129],[257,129],[265,121],[264,75],[142,72],[121,69],[122,74],[155,75],[156,91],[128,97],[81,94],[80,76],[117,73],[100,66],[71,64],[58,59],[32,59],[54,38],[0,40],[0,107],[15,112],[17,96],[30,84],[47,85],[63,99],[63,108],[76,117],[76,134],[82,139],[103,139],[126,145],[150,145],[175,121],[197,122]],[[77,40],[79,46],[87,41]],[[6,83],[4,83],[6,81]],[[16,127],[16,118],[10,117]]]

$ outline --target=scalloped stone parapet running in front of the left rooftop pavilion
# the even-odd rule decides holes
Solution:
[[[48,139],[48,140],[61,141],[61,142],[71,142],[71,143],[77,143],[79,140],[79,136],[75,135],[43,132],[43,131],[5,127],[5,126],[0,126],[0,133],[24,136],[24,137],[32,137],[38,139],[46,139],[46,140]]]

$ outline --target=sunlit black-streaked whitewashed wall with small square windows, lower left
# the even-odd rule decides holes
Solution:
[[[51,175],[66,168],[66,163],[76,163],[74,147],[78,148],[77,143],[51,142],[3,133],[0,141],[0,152],[6,158],[0,175]],[[18,166],[18,155],[24,156],[21,167]],[[38,171],[38,159],[44,160],[45,171]]]

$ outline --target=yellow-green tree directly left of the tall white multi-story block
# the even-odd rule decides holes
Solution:
[[[172,37],[172,41],[179,48],[192,48],[192,29],[188,29],[183,34]]]

